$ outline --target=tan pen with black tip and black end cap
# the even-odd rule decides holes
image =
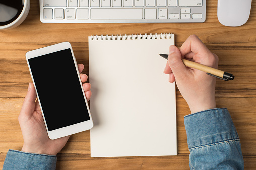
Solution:
[[[168,60],[168,54],[159,54],[159,55]],[[203,64],[195,63],[193,61],[189,61],[186,59],[182,59],[182,61],[183,61],[184,65],[187,67],[191,67],[194,69],[204,71],[204,72],[206,72],[206,74],[216,77],[216,78],[219,78],[221,80],[228,81],[228,80],[234,80],[234,78],[235,78],[235,76],[233,74],[230,74],[230,73],[227,73],[227,72],[224,72],[224,71],[212,68],[212,67],[208,67]]]

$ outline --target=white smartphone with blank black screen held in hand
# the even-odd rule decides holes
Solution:
[[[71,44],[63,42],[26,53],[50,139],[93,127]]]

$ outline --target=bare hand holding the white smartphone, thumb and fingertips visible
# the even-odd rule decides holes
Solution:
[[[78,64],[80,73],[83,69],[84,65]],[[85,83],[87,81],[87,75],[80,74],[80,78],[83,82],[86,98],[89,101],[92,95],[90,91],[91,85]],[[24,152],[56,155],[69,139],[69,136],[55,140],[49,139],[40,105],[38,100],[36,100],[36,91],[33,83],[29,83],[29,90],[19,115],[19,123],[24,139],[24,145],[22,147],[22,151]]]

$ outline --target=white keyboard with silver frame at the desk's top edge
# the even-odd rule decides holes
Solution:
[[[43,23],[204,22],[206,0],[39,0]]]

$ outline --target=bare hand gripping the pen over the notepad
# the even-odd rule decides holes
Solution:
[[[191,35],[180,48],[170,46],[164,69],[164,73],[169,74],[169,82],[176,81],[192,113],[216,108],[216,78],[198,69],[186,67],[182,58],[217,69],[217,55],[211,53],[196,35]]]

